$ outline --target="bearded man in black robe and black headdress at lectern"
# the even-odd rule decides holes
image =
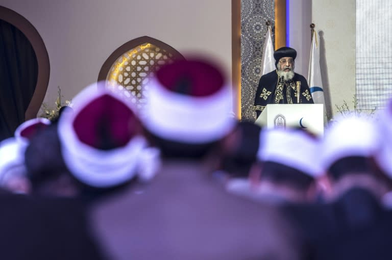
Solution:
[[[294,72],[296,57],[297,51],[290,47],[281,47],[275,51],[276,70],[262,75],[257,87],[253,106],[256,117],[267,104],[313,103],[305,77]]]

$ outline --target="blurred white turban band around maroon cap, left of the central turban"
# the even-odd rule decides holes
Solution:
[[[115,97],[133,111],[129,103],[106,89],[105,83],[94,83],[75,97],[75,112],[64,111],[58,127],[66,166],[82,183],[98,188],[116,186],[130,180],[136,174],[139,154],[146,145],[141,136],[135,136],[125,146],[111,150],[100,150],[79,140],[73,127],[75,118],[91,101],[104,94]]]

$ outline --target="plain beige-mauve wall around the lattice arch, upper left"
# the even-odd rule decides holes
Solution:
[[[203,51],[218,59],[231,79],[229,0],[1,0],[27,18],[41,35],[51,74],[44,101],[57,86],[69,99],[97,80],[117,47],[150,36],[182,54]]]

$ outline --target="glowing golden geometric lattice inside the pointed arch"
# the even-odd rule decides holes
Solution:
[[[143,109],[148,83],[154,71],[173,62],[173,55],[152,43],[143,43],[122,54],[109,69],[106,80],[108,88],[118,86],[121,96],[129,99],[137,108]]]

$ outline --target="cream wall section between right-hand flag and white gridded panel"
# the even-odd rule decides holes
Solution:
[[[355,94],[355,0],[313,0],[312,22],[321,42],[321,66],[326,101],[335,105],[344,100],[353,109]],[[324,44],[324,49],[323,49]],[[323,59],[324,58],[324,59]],[[331,108],[330,107],[330,108]]]

